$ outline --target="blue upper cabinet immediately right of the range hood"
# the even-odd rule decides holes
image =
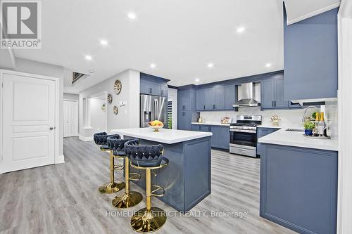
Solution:
[[[261,108],[289,108],[289,102],[284,100],[284,77],[276,75],[260,82]]]

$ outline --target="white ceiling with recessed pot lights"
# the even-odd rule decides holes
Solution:
[[[130,12],[135,20],[127,17]],[[246,30],[239,34],[237,27]],[[63,65],[66,74],[94,70],[74,86],[66,81],[66,92],[82,91],[128,68],[165,77],[175,86],[196,84],[196,78],[203,84],[282,70],[282,27],[277,0],[45,0],[42,49],[18,50],[15,56]],[[100,39],[109,45],[101,46]]]

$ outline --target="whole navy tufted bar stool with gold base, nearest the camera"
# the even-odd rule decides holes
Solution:
[[[151,185],[151,170],[168,166],[169,160],[163,157],[163,145],[139,145],[139,140],[134,139],[125,143],[125,152],[131,167],[146,170],[146,208],[134,213],[131,226],[139,233],[159,230],[166,222],[166,213],[163,209],[151,207],[151,196],[162,197],[165,190],[161,186]],[[160,190],[161,193],[156,193]]]

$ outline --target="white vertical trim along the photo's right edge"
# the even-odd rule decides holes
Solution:
[[[337,233],[352,233],[352,2],[344,0],[338,14],[339,37],[339,190]]]

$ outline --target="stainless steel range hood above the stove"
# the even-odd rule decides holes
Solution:
[[[232,105],[234,108],[249,108],[260,105],[260,83],[251,82],[239,84],[237,89],[237,101]]]

